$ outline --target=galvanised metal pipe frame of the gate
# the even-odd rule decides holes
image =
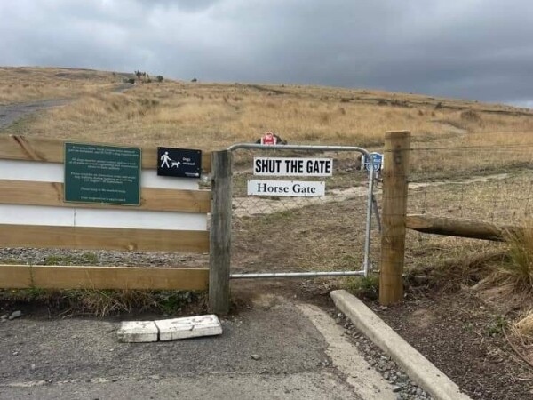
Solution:
[[[362,261],[362,271],[337,271],[337,272],[279,272],[279,273],[261,273],[261,274],[231,274],[232,279],[238,278],[254,278],[254,277],[302,277],[302,276],[368,276],[370,273],[370,229],[372,224],[372,200],[374,196],[374,160],[370,156],[370,152],[365,148],[358,146],[314,146],[314,145],[262,145],[257,143],[235,143],[227,148],[229,151],[238,149],[255,149],[255,150],[300,150],[300,151],[356,151],[365,156],[369,160],[369,190],[367,196],[367,212],[366,212],[366,226],[364,239],[364,259]],[[363,165],[361,165],[363,166]],[[295,275],[296,274],[296,275]],[[305,275],[310,274],[310,275]],[[316,275],[326,274],[326,275]],[[333,274],[333,275],[331,275]]]

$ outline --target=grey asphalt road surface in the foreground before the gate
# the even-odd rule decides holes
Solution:
[[[267,296],[222,320],[220,336],[171,342],[119,343],[118,324],[0,323],[0,398],[395,398],[315,306]]]

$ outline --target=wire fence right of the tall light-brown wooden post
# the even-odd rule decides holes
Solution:
[[[533,132],[472,132],[411,145],[408,213],[521,225],[532,211]],[[408,268],[497,246],[417,232],[406,240]]]

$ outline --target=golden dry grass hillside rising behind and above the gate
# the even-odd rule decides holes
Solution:
[[[47,87],[57,75],[53,71],[49,71],[49,79],[44,84]],[[6,84],[27,84],[32,76],[42,72],[28,70],[17,74],[24,78],[8,79]],[[72,89],[71,96],[81,95],[72,86],[65,87]],[[17,124],[7,132],[16,133],[21,129]],[[50,110],[28,121],[22,131],[75,140],[213,149],[256,140],[267,131],[277,132],[290,143],[379,148],[384,132],[398,129],[413,133],[414,148],[531,145],[533,112],[406,93],[165,80],[161,84],[139,84],[120,94],[99,92],[82,96],[67,107]],[[523,134],[508,133],[519,131]],[[522,158],[530,158],[529,154],[533,152]],[[432,158],[426,156],[426,164],[438,170],[442,157]],[[460,158],[460,155],[450,155],[448,164],[457,164]],[[472,157],[466,161],[476,162]],[[419,166],[426,168],[426,164]]]

